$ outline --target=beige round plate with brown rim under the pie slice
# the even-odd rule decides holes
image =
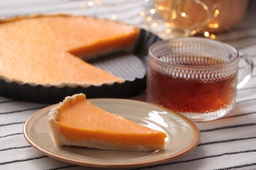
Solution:
[[[167,134],[165,150],[127,152],[78,146],[58,147],[47,122],[51,105],[33,114],[24,124],[24,137],[34,148],[57,160],[89,167],[131,168],[175,160],[198,144],[200,133],[190,120],[171,110],[128,99],[90,99],[101,109]]]

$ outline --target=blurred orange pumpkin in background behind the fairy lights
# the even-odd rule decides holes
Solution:
[[[219,33],[232,29],[245,16],[248,0],[154,0],[156,11],[178,29]]]

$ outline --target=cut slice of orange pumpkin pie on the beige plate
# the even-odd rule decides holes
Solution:
[[[68,96],[49,112],[58,146],[86,146],[106,150],[162,150],[166,134],[106,112],[85,94]]]

